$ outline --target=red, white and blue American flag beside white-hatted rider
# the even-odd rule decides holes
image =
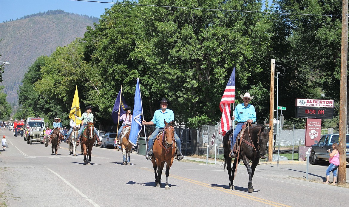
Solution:
[[[235,67],[230,75],[227,87],[225,87],[219,108],[222,112],[221,127],[219,133],[225,135],[230,130],[230,104],[235,102]]]

